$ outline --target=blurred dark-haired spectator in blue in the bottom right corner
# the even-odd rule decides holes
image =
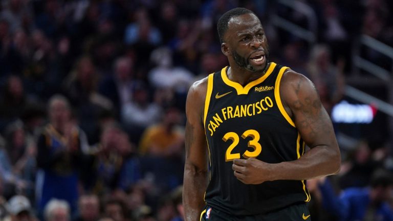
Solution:
[[[319,189],[323,206],[339,217],[339,220],[393,220],[392,200],[393,175],[376,170],[369,187],[347,188],[337,196],[328,179],[321,178]]]

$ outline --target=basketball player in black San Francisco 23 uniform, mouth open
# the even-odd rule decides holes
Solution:
[[[305,180],[340,168],[315,87],[269,62],[252,11],[226,12],[217,30],[229,67],[195,82],[187,97],[185,219],[311,220]]]

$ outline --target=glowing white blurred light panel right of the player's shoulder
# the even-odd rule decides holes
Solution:
[[[333,107],[332,120],[335,123],[364,123],[373,121],[377,108],[368,104],[351,104],[343,100]]]

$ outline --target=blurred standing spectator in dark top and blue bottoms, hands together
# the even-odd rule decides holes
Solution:
[[[61,95],[49,100],[50,122],[37,143],[37,209],[42,211],[51,198],[65,200],[75,211],[78,200],[78,175],[85,155],[83,131],[71,116],[71,106]]]

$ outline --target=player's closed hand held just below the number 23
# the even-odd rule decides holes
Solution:
[[[260,184],[270,180],[271,164],[255,158],[234,159],[232,164],[233,174],[245,184]]]

